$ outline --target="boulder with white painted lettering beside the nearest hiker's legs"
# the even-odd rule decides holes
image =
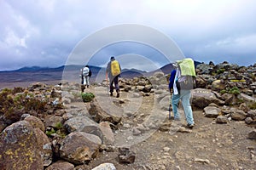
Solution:
[[[204,88],[195,88],[192,91],[192,105],[203,109],[211,103],[215,103],[217,105],[224,105],[224,101],[218,99],[211,90]]]

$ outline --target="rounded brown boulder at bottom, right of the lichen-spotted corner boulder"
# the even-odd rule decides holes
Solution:
[[[93,141],[100,141],[101,139],[96,138],[90,139],[88,133],[83,132],[68,134],[61,142],[61,158],[75,165],[89,162],[99,153],[100,144]]]

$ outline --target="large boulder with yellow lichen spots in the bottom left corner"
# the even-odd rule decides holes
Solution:
[[[0,134],[0,169],[44,169],[38,139],[29,122],[15,122]]]

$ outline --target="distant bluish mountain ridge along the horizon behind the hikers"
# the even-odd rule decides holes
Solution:
[[[200,64],[196,62],[195,65]],[[89,65],[92,72],[91,80],[94,82],[99,75],[105,78],[106,68]],[[15,71],[0,71],[0,82],[16,83],[16,82],[47,82],[57,81],[61,82],[63,75],[71,80],[78,80],[81,74],[81,69],[84,65],[61,65],[56,68],[49,67],[22,67]],[[170,74],[173,69],[172,64],[164,65],[160,69],[154,71],[140,71],[137,69],[123,69],[121,77],[133,78],[133,77],[148,77],[152,76],[157,71],[162,71],[164,74]],[[100,74],[99,74],[100,73]]]

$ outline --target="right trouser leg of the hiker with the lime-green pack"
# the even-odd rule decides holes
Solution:
[[[189,102],[189,99],[191,97],[191,91],[190,90],[181,90],[181,101],[183,105],[184,114],[186,116],[186,121],[188,122],[188,125],[194,125],[194,119],[193,119],[193,112],[192,108]]]

